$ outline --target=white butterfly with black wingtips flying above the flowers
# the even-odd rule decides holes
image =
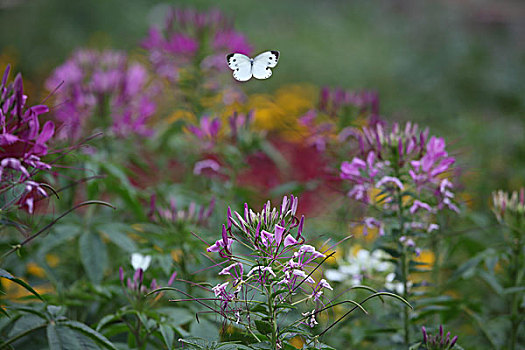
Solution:
[[[238,81],[248,81],[253,76],[255,79],[268,79],[272,70],[279,61],[279,51],[266,51],[255,58],[250,58],[240,53],[231,53],[226,56],[228,67],[233,70],[233,77]]]

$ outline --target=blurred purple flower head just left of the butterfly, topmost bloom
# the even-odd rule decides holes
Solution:
[[[251,52],[246,38],[218,10],[170,8],[162,28],[150,28],[142,46],[157,74],[170,81],[195,63],[203,70],[223,70],[226,54]]]

